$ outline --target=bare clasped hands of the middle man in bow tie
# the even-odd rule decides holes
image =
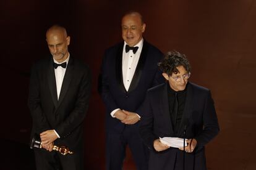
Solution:
[[[126,110],[117,110],[114,116],[124,124],[135,124],[140,120],[136,113]]]

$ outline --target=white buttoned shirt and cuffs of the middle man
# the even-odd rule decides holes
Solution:
[[[134,47],[139,47],[139,49],[135,54],[134,52],[132,52],[132,50],[130,50],[129,52],[126,52],[126,45],[127,43],[126,41],[124,41],[124,47],[122,49],[122,81],[124,83],[124,87],[126,88],[126,91],[128,91],[130,87],[130,83],[132,82],[132,78],[134,77],[137,64],[140,59],[140,53],[142,52],[143,38],[140,40],[138,44],[134,46]],[[117,110],[120,110],[120,108],[116,108],[115,110],[111,111],[110,115],[113,118],[115,118],[114,113],[116,113]]]

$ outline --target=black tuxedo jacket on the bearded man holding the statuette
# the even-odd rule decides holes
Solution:
[[[80,150],[90,88],[91,75],[87,65],[70,55],[58,100],[53,57],[36,62],[30,75],[28,95],[32,135],[55,129],[61,137],[54,141],[55,145]]]

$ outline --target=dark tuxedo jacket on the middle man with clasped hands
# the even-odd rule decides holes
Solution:
[[[124,124],[112,118],[111,111],[120,108],[140,115],[140,106],[145,99],[147,89],[164,81],[157,65],[163,58],[163,54],[144,39],[139,62],[129,90],[126,91],[122,80],[123,47],[124,42],[121,42],[107,49],[101,68],[100,91],[106,105],[106,130],[115,133],[121,133]]]

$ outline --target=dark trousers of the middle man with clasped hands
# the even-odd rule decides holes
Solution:
[[[121,134],[106,134],[106,169],[121,170],[126,156],[126,147],[130,148],[138,170],[148,170],[149,150],[139,136],[135,125],[126,125]]]

